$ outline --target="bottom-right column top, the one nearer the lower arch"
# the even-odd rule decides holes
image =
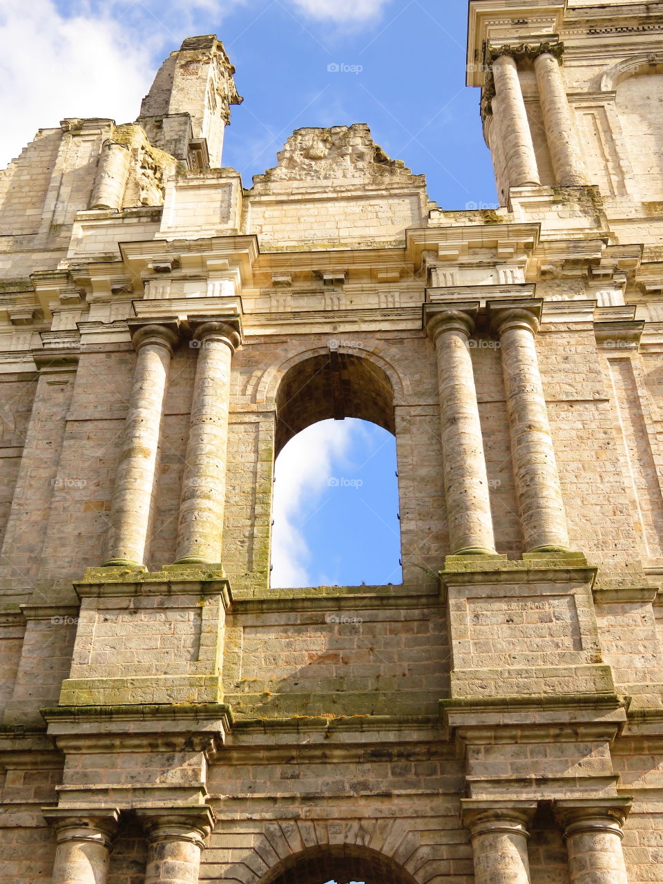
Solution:
[[[532,808],[482,807],[492,803],[471,800],[463,804],[470,805],[463,808],[463,822],[472,842],[475,884],[530,884],[527,826]]]

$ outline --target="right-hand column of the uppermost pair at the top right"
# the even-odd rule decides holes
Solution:
[[[555,180],[560,187],[586,184],[560,63],[551,52],[542,52],[534,60],[534,70]]]

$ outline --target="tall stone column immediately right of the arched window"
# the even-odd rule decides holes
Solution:
[[[476,306],[426,305],[426,330],[438,354],[442,458],[453,555],[495,555],[484,441],[469,337]]]

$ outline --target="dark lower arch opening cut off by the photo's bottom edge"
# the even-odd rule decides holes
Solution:
[[[354,844],[303,850],[278,864],[261,884],[415,884],[391,857]]]

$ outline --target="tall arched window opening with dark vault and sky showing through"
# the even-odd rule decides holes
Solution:
[[[331,351],[281,381],[271,586],[402,581],[389,378],[369,359]]]

